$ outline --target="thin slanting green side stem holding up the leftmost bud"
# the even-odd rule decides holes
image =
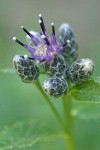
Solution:
[[[47,101],[47,103],[49,104],[49,106],[51,107],[53,113],[55,114],[58,122],[60,123],[60,125],[62,126],[62,128],[65,130],[65,126],[64,123],[59,115],[59,113],[57,112],[57,110],[55,109],[54,105],[52,104],[52,102],[50,101],[49,97],[44,93],[44,90],[42,89],[40,82],[37,81],[37,83],[35,84],[36,87],[38,88],[38,90],[41,92],[41,94],[43,95],[43,97],[45,98],[45,100]]]

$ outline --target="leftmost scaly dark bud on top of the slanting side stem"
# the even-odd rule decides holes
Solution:
[[[16,55],[13,58],[13,64],[16,73],[22,79],[23,82],[33,83],[39,77],[39,69],[34,63],[33,58],[29,58],[27,55]]]

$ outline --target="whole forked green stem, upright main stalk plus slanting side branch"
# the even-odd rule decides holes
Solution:
[[[51,107],[53,113],[55,114],[58,122],[60,123],[61,127],[66,133],[66,145],[68,150],[75,150],[75,144],[74,144],[74,139],[73,139],[73,134],[72,134],[72,127],[73,127],[73,117],[71,115],[71,96],[68,94],[67,96],[63,97],[63,105],[64,105],[64,111],[65,111],[65,116],[66,116],[66,122],[67,124],[65,125],[62,121],[62,118],[60,117],[59,113],[57,112],[56,108],[50,101],[49,97],[44,93],[44,90],[42,89],[40,82],[38,81],[36,84],[36,87],[38,90],[41,92],[49,106]]]

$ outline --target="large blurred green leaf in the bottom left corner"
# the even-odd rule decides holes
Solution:
[[[21,121],[0,131],[0,150],[32,147],[37,142],[63,137],[60,129],[36,120]]]

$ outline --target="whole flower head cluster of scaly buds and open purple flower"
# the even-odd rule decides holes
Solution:
[[[79,59],[78,44],[69,24],[64,23],[58,29],[58,41],[55,36],[54,23],[51,23],[52,33],[48,37],[42,15],[39,14],[39,24],[42,32],[28,31],[28,44],[16,37],[13,40],[26,48],[31,57],[17,55],[13,59],[14,67],[22,81],[33,83],[37,81],[42,68],[49,78],[44,81],[44,91],[54,97],[68,93],[68,80],[73,83],[86,81],[93,72],[94,63],[91,59]],[[37,66],[40,66],[39,68]]]

